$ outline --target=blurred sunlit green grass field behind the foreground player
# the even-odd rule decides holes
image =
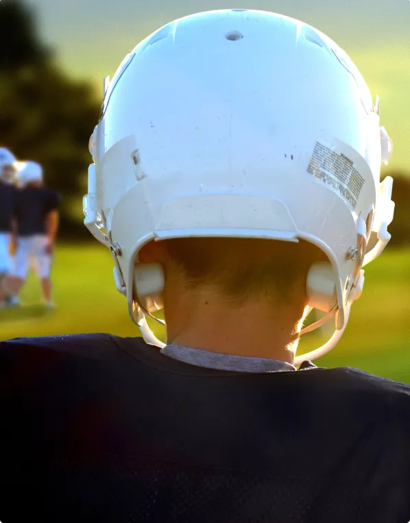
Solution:
[[[387,250],[365,269],[365,288],[352,307],[339,345],[317,363],[349,365],[410,383],[410,250]],[[115,289],[108,250],[98,245],[60,246],[53,268],[56,309],[40,305],[31,276],[22,306],[0,311],[0,339],[25,336],[110,332],[138,336],[125,297]],[[163,337],[161,328],[154,328]],[[324,332],[306,335],[300,352],[326,341]]]

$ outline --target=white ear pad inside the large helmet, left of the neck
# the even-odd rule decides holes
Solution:
[[[160,263],[134,265],[134,293],[145,311],[154,313],[164,306],[164,269]]]

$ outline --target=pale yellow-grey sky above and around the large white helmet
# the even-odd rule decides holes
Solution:
[[[410,173],[410,0],[24,0],[73,77],[102,79],[161,25],[193,12],[248,8],[278,12],[317,27],[356,62],[381,98],[381,123],[394,141],[391,169]]]

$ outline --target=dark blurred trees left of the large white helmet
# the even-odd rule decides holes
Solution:
[[[0,144],[43,165],[47,184],[63,197],[61,235],[88,238],[81,197],[99,117],[94,88],[58,69],[34,13],[20,1],[0,4],[0,42]]]

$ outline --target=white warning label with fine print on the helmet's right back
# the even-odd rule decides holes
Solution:
[[[350,158],[336,153],[322,142],[316,142],[307,171],[332,186],[354,209],[356,208],[365,179],[354,168]]]

